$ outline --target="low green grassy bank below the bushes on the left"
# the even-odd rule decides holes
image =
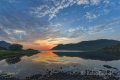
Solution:
[[[32,55],[35,53],[38,53],[38,51],[35,51],[35,50],[21,50],[21,51],[0,50],[0,57],[16,56],[16,55]]]

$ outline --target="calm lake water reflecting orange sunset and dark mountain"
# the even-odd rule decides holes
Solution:
[[[42,51],[32,56],[0,58],[0,74],[24,78],[38,73],[44,74],[47,69],[61,70],[60,67],[66,71],[106,70],[103,65],[110,65],[120,71],[120,56],[96,51]]]

